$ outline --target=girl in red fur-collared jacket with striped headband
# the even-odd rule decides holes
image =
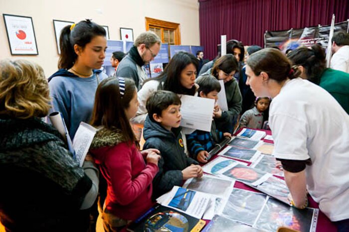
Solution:
[[[90,153],[108,185],[102,214],[106,232],[119,231],[153,205],[152,181],[159,171],[160,152],[139,151],[129,123],[138,105],[131,79],[108,78],[97,88],[91,124],[99,130]]]

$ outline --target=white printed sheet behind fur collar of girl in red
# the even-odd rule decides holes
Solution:
[[[75,160],[79,163],[80,167],[84,163],[96,131],[97,129],[95,127],[82,121],[75,133],[73,148],[75,150]]]

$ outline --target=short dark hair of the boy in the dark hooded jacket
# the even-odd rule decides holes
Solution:
[[[153,115],[162,115],[162,112],[171,105],[180,105],[180,99],[178,95],[171,91],[158,90],[152,94],[147,100],[147,111],[149,118],[156,122]]]

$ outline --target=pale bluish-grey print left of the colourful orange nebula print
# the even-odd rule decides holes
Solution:
[[[222,216],[252,226],[262,210],[266,195],[234,188]]]

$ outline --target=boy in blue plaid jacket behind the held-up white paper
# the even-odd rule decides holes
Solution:
[[[214,99],[217,102],[218,93],[221,87],[216,78],[209,74],[205,74],[197,80],[196,84],[199,85],[198,93],[200,97]],[[216,104],[213,118],[219,113],[221,114],[221,112],[222,110]],[[195,130],[186,136],[188,151],[190,155],[200,163],[207,163],[208,152],[216,143],[221,142],[224,139],[224,136],[231,137],[231,134],[229,132],[223,133],[216,129],[216,124],[214,120],[212,120],[210,132]]]

